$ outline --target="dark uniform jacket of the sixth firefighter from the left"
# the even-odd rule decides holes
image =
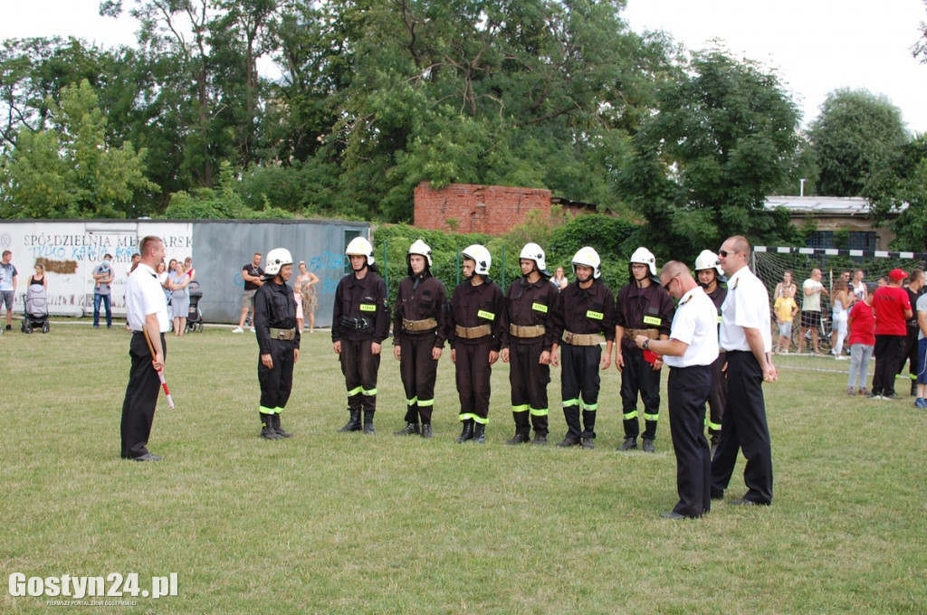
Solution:
[[[570,282],[557,295],[553,317],[553,341],[563,344],[565,331],[603,333],[606,341],[615,339],[615,295],[611,289],[593,280],[589,288]]]

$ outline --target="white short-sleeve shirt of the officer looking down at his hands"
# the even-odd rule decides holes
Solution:
[[[701,286],[679,299],[669,339],[689,345],[681,357],[663,358],[671,368],[711,365],[717,358],[717,308]]]

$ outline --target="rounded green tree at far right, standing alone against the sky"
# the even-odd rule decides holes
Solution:
[[[871,174],[908,142],[901,111],[882,94],[841,89],[828,94],[809,137],[819,169],[818,194],[858,196]]]

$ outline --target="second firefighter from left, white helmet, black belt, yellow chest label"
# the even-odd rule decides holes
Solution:
[[[335,290],[332,342],[348,387],[349,420],[339,432],[374,433],[376,372],[380,348],[389,335],[387,285],[376,275],[374,246],[363,237],[350,240],[345,254],[352,271]]]

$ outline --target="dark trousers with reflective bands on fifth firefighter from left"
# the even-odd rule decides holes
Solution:
[[[528,433],[528,415],[538,435],[547,435],[547,385],[551,382],[551,366],[540,364],[544,340],[513,341],[509,345],[509,383],[512,385],[512,411],[515,431]]]

